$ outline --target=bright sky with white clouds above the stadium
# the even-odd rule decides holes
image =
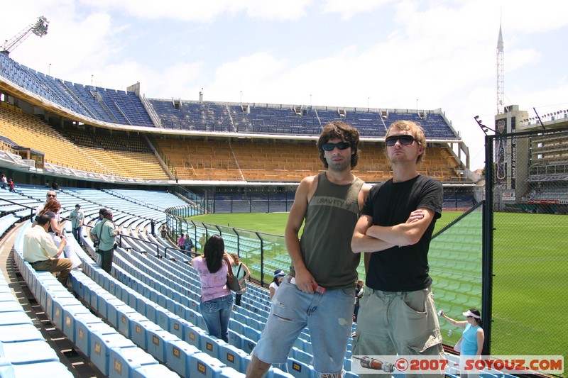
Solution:
[[[60,79],[158,99],[442,109],[484,167],[497,113],[497,40],[505,104],[535,116],[568,109],[568,1],[18,0],[0,40],[38,16],[48,34],[17,62]]]

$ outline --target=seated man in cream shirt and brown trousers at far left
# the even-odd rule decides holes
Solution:
[[[23,260],[29,262],[35,270],[59,272],[59,282],[67,287],[67,277],[69,277],[73,263],[69,259],[59,258],[67,240],[63,237],[59,248],[55,247],[55,243],[48,234],[50,220],[51,216],[43,213],[36,218],[37,224],[26,230],[23,235]]]

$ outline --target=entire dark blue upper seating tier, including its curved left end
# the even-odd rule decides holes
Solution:
[[[76,84],[31,70],[0,56],[0,76],[60,106],[98,121],[154,126],[144,106],[152,108],[163,128],[206,132],[318,135],[330,121],[346,121],[361,136],[381,138],[394,121],[417,121],[427,138],[457,139],[459,135],[435,111],[371,111],[332,106],[229,104],[210,101],[144,99],[132,92]],[[246,111],[244,110],[246,109]],[[383,115],[384,113],[384,115]]]

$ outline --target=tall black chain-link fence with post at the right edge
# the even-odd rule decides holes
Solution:
[[[567,360],[567,145],[566,129],[486,138],[483,312],[491,355]]]

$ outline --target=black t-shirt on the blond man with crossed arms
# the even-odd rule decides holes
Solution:
[[[388,180],[371,188],[363,215],[373,217],[373,225],[395,226],[405,223],[416,209],[435,212],[420,241],[405,247],[393,247],[371,255],[366,284],[383,291],[415,291],[432,284],[428,275],[428,248],[436,219],[442,215],[442,183],[419,174],[405,182]],[[372,251],[369,251],[372,252]]]

